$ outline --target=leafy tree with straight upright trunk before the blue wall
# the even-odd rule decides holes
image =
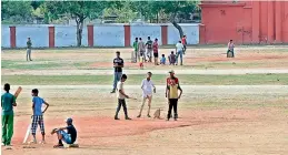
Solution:
[[[96,19],[106,8],[106,1],[47,1],[43,10],[48,11],[49,19],[70,17],[77,24],[77,46],[82,44],[85,19]]]

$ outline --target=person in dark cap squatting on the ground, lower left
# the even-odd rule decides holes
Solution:
[[[53,135],[57,133],[58,137],[58,144],[54,145],[53,147],[63,147],[63,143],[66,144],[73,144],[77,140],[77,130],[73,126],[73,120],[71,117],[66,120],[67,126],[66,127],[59,127],[54,128],[51,134]],[[67,131],[67,132],[64,132]]]

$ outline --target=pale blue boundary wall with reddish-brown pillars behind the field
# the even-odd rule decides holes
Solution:
[[[199,43],[199,24],[180,24],[188,44]],[[75,25],[2,25],[2,48],[24,48],[31,38],[33,48],[77,46]],[[83,46],[131,46],[135,38],[158,39],[160,45],[176,44],[179,32],[172,24],[97,24],[82,31]]]

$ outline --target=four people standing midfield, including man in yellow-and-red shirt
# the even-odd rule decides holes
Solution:
[[[113,89],[111,93],[117,92],[117,99],[118,99],[118,106],[116,110],[115,114],[115,120],[119,120],[118,114],[123,107],[125,112],[125,118],[126,120],[131,120],[128,116],[128,108],[126,104],[126,99],[130,99],[125,92],[125,82],[128,79],[126,74],[122,74],[122,68],[123,68],[123,60],[120,58],[120,52],[116,52],[117,58],[113,60],[113,68],[115,68],[115,79],[113,79]],[[178,118],[178,111],[177,111],[177,104],[178,100],[181,97],[182,94],[182,89],[180,87],[179,80],[175,76],[175,71],[169,71],[170,76],[167,78],[167,84],[166,84],[166,97],[168,97],[168,103],[169,103],[169,108],[168,108],[168,114],[167,114],[167,121],[170,120],[171,117],[171,111],[173,108],[173,118],[177,121]],[[143,110],[143,106],[148,100],[148,112],[147,112],[147,117],[150,116],[150,108],[151,108],[151,102],[152,102],[152,94],[156,93],[156,86],[151,80],[152,73],[148,72],[147,78],[142,80],[141,82],[141,89],[142,89],[142,103],[140,106],[140,112],[137,117],[141,117],[141,113]],[[180,94],[179,94],[180,91]]]

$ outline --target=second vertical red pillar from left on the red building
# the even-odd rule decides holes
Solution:
[[[268,22],[267,22],[267,39],[268,43],[274,43],[275,42],[275,10],[274,10],[274,4],[275,2],[268,1]]]

